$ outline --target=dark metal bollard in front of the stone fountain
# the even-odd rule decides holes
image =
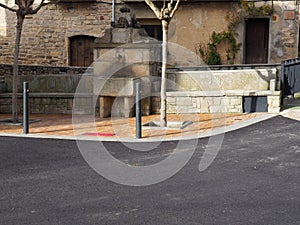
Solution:
[[[141,107],[141,82],[135,84],[135,125],[136,138],[142,137],[142,107]]]

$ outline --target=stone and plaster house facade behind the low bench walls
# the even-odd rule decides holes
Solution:
[[[114,10],[113,1],[116,4]],[[298,56],[298,6],[295,5],[297,1],[255,1],[256,9],[261,6],[272,8],[269,14],[256,15],[251,12],[248,14],[241,12],[239,2],[237,0],[182,1],[169,26],[170,41],[196,52],[195,47],[199,43],[207,44],[213,32],[225,31],[228,23],[236,16],[239,17],[239,21],[235,26],[235,38],[241,45],[233,60],[234,64],[279,63]],[[8,3],[13,5],[14,1],[9,0]],[[59,4],[48,5],[37,15],[26,18],[21,40],[20,63],[87,66],[90,63],[78,64],[76,60],[83,60],[73,59],[73,56],[83,55],[82,51],[92,54],[91,50],[86,50],[85,47],[83,50],[73,50],[74,46],[78,46],[79,43],[88,45],[86,41],[92,46],[93,40],[103,36],[105,29],[110,27],[112,11],[118,20],[119,9],[124,7],[123,3],[151,36],[160,38],[160,22],[144,0],[110,0],[105,4],[100,0],[65,0]],[[231,21],[228,20],[228,15],[231,16]],[[265,59],[256,62],[257,56],[254,55],[251,56],[254,61],[249,61],[247,55],[253,48],[248,48],[246,43],[249,42],[248,37],[253,32],[247,27],[261,26],[261,22],[264,24],[262,35],[265,40],[263,46],[257,47],[256,51],[260,49],[265,51],[263,53]],[[12,63],[14,37],[15,15],[0,8],[0,63],[2,64]],[[226,48],[228,50],[229,45],[228,42],[224,42],[217,46],[222,64],[229,64],[226,60]],[[92,58],[90,55],[83,56],[83,58],[88,57]]]

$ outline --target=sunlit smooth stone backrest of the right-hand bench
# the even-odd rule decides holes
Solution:
[[[168,73],[170,91],[263,91],[270,90],[270,82],[279,90],[280,76],[273,69],[176,71]]]

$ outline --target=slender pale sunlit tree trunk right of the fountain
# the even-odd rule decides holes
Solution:
[[[167,54],[168,54],[168,26],[167,20],[162,20],[163,43],[162,43],[162,71],[161,71],[161,106],[160,126],[167,126]]]

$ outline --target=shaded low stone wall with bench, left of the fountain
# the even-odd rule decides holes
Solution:
[[[78,83],[84,78],[79,96],[76,97],[77,112],[92,114],[93,76],[92,68],[20,66],[18,111],[22,112],[22,82],[29,83],[30,113],[72,114],[74,93]],[[12,66],[0,65],[0,113],[11,113],[12,107]],[[5,86],[4,86],[5,85]],[[4,87],[4,88],[3,88]],[[96,108],[99,111],[99,108]]]

